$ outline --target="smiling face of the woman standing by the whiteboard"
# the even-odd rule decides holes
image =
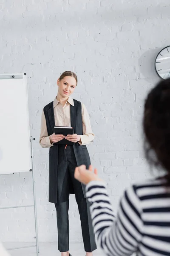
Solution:
[[[57,80],[58,92],[63,98],[68,98],[75,90],[77,82],[72,76],[65,76],[61,81]]]

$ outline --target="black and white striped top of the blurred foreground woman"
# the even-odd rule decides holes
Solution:
[[[125,190],[115,218],[105,183],[86,186],[96,240],[108,256],[170,256],[170,184],[146,180]]]

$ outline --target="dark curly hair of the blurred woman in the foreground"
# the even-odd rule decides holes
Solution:
[[[170,178],[170,79],[160,81],[148,93],[143,128],[147,160],[166,169]],[[152,157],[151,151],[155,157]]]

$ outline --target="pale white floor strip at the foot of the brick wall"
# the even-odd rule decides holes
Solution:
[[[23,247],[32,245],[30,243],[3,243],[6,248]],[[38,256],[59,256],[56,243],[39,243]],[[11,256],[37,256],[36,247],[23,249],[8,250]],[[82,243],[70,244],[70,253],[72,256],[85,256],[85,251]],[[97,249],[93,252],[93,256],[103,256],[101,250]]]

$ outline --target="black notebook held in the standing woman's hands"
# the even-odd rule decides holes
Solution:
[[[68,126],[54,126],[54,132],[55,134],[62,134],[64,136],[67,136],[69,134],[74,134],[73,127]],[[74,145],[74,142],[69,140],[60,140],[57,142],[59,145]]]

